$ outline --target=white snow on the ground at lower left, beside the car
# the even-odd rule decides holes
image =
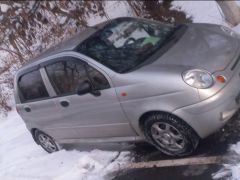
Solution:
[[[101,180],[129,161],[129,152],[97,149],[48,154],[35,144],[15,111],[0,119],[2,180]]]

